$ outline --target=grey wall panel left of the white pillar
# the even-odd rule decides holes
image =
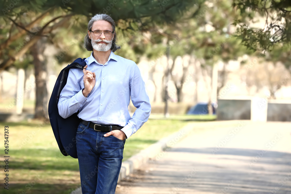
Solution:
[[[251,100],[218,99],[217,120],[250,120]]]

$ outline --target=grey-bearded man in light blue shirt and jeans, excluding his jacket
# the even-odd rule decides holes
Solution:
[[[83,72],[70,69],[58,110],[63,118],[78,113],[77,154],[82,193],[115,193],[125,139],[148,120],[151,106],[136,63],[115,55],[115,23],[97,14],[88,23],[84,47],[93,51]],[[136,107],[130,117],[130,98]]]

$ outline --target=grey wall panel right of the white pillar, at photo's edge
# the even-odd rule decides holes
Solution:
[[[267,121],[291,121],[291,102],[269,102]]]

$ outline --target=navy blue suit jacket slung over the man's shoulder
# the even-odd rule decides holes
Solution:
[[[62,154],[64,156],[72,156],[78,158],[76,147],[76,133],[80,123],[80,119],[77,117],[78,113],[74,113],[70,117],[64,119],[58,113],[58,99],[60,93],[67,83],[69,70],[71,68],[83,69],[86,66],[85,59],[77,58],[73,63],[65,67],[56,80],[52,96],[49,99],[49,121],[51,123],[54,136],[58,143]]]

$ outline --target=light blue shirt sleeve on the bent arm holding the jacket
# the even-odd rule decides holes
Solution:
[[[84,97],[82,89],[84,86],[79,85],[78,78],[74,74],[76,69],[70,69],[65,87],[61,91],[58,101],[58,113],[61,117],[68,118],[83,106],[87,97]]]

